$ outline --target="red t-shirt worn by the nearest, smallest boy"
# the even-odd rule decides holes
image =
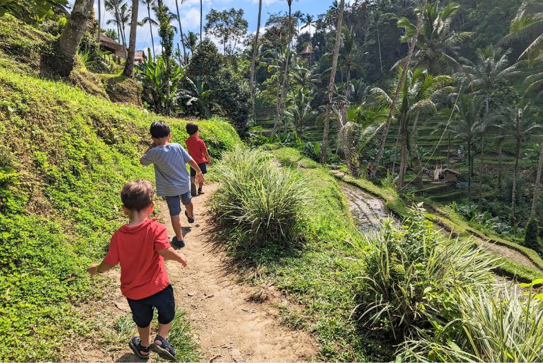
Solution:
[[[170,247],[166,227],[147,218],[135,227],[124,225],[113,234],[104,262],[121,264],[121,292],[139,300],[170,284],[164,258],[158,251]]]

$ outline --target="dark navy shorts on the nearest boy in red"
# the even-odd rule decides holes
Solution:
[[[175,298],[173,297],[173,287],[168,285],[155,295],[140,300],[128,300],[130,310],[132,310],[132,319],[140,328],[149,326],[152,320],[152,313],[155,308],[159,311],[159,323],[168,324],[175,316]]]

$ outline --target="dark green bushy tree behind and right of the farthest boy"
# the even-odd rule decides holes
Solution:
[[[192,80],[200,76],[206,90],[216,90],[211,96],[212,101],[219,104],[237,132],[244,135],[253,110],[253,97],[247,81],[235,73],[213,41],[205,39],[197,46],[188,65],[187,76]]]

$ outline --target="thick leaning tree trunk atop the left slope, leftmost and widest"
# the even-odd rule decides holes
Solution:
[[[75,54],[87,30],[93,5],[94,0],[75,0],[70,20],[59,39],[58,64],[53,70],[59,76],[70,76],[74,68]]]

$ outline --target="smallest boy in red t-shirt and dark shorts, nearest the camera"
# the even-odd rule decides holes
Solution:
[[[150,349],[174,360],[175,349],[168,340],[168,333],[175,315],[175,300],[164,260],[177,261],[184,267],[187,260],[170,246],[166,227],[149,218],[155,206],[154,194],[147,180],[135,180],[123,187],[123,211],[130,222],[113,234],[108,254],[101,264],[91,265],[88,271],[95,276],[121,265],[121,292],[128,300],[139,333],[139,337],[130,340],[130,349],[142,360],[149,358]],[[155,308],[159,312],[159,329],[151,344],[150,323]]]

